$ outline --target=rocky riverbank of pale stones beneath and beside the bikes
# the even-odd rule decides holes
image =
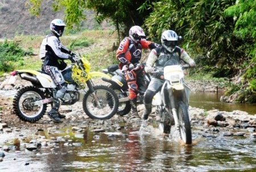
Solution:
[[[8,85],[8,77],[1,81],[1,90],[15,91],[17,86]],[[20,85],[27,85],[18,81]],[[99,84],[104,84],[100,80]],[[224,91],[224,88],[216,83],[208,82],[188,82],[193,91]],[[138,106],[139,115],[143,113],[143,105]],[[92,120],[88,118],[82,110],[81,102],[72,106],[61,106],[61,114],[66,115],[63,123],[56,124],[44,115],[36,123],[28,123],[20,120],[13,114],[12,98],[0,95],[0,161],[4,160],[5,154],[10,149],[17,146],[24,146],[27,150],[39,149],[42,146],[58,146],[59,144],[79,144],[69,138],[69,136],[51,136],[53,133],[63,133],[73,131],[83,133],[85,130],[97,132],[114,132],[132,127],[139,130],[141,119],[131,118],[130,114],[123,117],[114,115],[109,120]],[[247,139],[256,137],[256,115],[249,115],[243,111],[225,112],[218,110],[205,111],[200,108],[189,107],[191,115],[191,125],[193,132],[200,133],[201,137],[217,137],[218,135],[233,137],[241,136]],[[157,116],[153,112],[148,123],[154,123]],[[65,131],[63,131],[63,129]],[[51,137],[47,137],[51,136]]]

